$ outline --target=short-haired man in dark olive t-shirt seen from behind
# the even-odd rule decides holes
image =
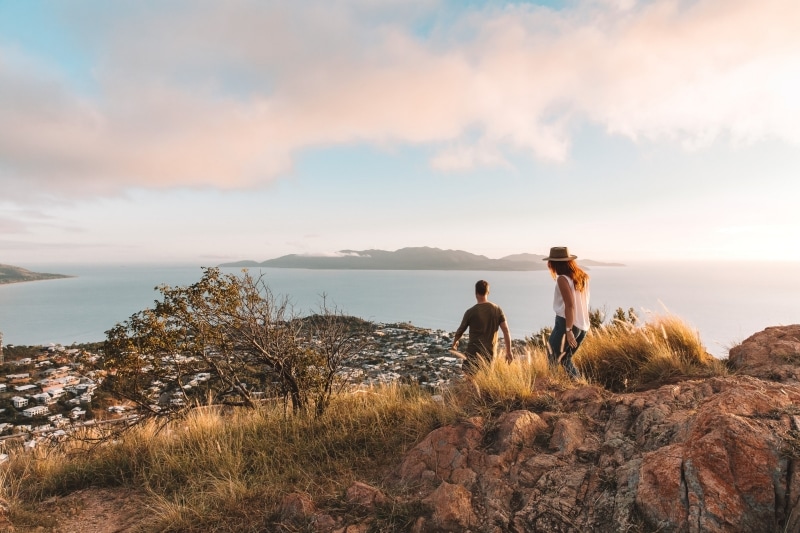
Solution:
[[[508,331],[508,322],[500,306],[489,301],[489,282],[480,280],[475,284],[475,299],[473,305],[464,313],[461,325],[456,330],[453,339],[453,350],[458,350],[458,341],[469,328],[469,343],[465,355],[464,372],[474,374],[478,370],[481,359],[491,361],[497,349],[497,328],[503,330],[506,344],[506,361],[511,362],[511,334]]]

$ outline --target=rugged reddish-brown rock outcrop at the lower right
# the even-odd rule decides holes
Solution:
[[[753,335],[729,361],[728,377],[548,391],[547,409],[441,427],[383,487],[347,490],[357,523],[302,494],[284,519],[367,531],[403,506],[420,533],[800,531],[800,325]]]

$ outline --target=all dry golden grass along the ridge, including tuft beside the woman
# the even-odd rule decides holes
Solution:
[[[359,390],[336,396],[319,418],[290,415],[282,405],[199,407],[169,426],[135,427],[101,446],[70,440],[13,453],[0,473],[2,495],[12,520],[31,527],[39,525],[36,502],[53,495],[144,486],[154,510],[147,531],[281,530],[280,501],[294,491],[325,512],[355,516],[361,511],[347,505],[345,489],[356,480],[382,487],[404,453],[441,425],[514,409],[558,410],[557,391],[575,386],[631,390],[725,372],[674,317],[596,328],[578,355],[586,376],[578,383],[531,344],[513,363],[486,364],[441,395],[401,385]],[[404,531],[413,518],[413,509],[390,506],[376,530]]]

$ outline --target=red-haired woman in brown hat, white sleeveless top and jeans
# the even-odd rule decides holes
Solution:
[[[553,295],[553,310],[556,324],[550,334],[550,363],[559,361],[573,379],[581,377],[572,364],[575,350],[589,331],[589,275],[575,262],[578,257],[570,255],[566,246],[550,248],[547,268],[556,280]]]

